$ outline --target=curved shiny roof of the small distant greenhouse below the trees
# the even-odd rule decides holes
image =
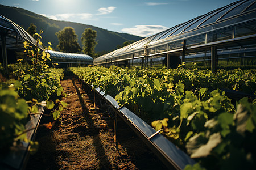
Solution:
[[[55,58],[77,59],[79,61],[88,61],[88,62],[93,61],[93,58],[86,54],[63,53],[63,52],[56,52],[52,50],[48,50],[48,53],[51,55],[51,57],[55,57]]]

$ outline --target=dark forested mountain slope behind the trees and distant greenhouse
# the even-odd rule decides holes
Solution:
[[[59,44],[55,33],[60,31],[64,27],[72,27],[75,29],[76,34],[78,35],[78,42],[81,47],[81,35],[82,32],[84,32],[84,29],[92,28],[93,30],[97,31],[96,41],[98,42],[98,44],[95,48],[96,52],[114,50],[117,48],[117,45],[122,45],[125,41],[138,41],[142,39],[142,37],[139,36],[108,31],[106,29],[94,27],[92,25],[52,20],[42,15],[35,14],[34,12],[24,10],[22,8],[4,6],[1,4],[0,14],[20,25],[25,30],[27,30],[27,28],[30,26],[30,23],[35,24],[37,27],[36,30],[38,32],[40,31],[40,29],[42,29],[42,31],[44,32],[42,35],[43,44],[51,42],[52,48],[54,49],[57,49],[56,46]]]

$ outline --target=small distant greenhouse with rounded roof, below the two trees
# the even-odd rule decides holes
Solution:
[[[51,55],[52,63],[67,66],[89,65],[93,63],[93,58],[86,54],[63,53],[52,50],[48,50],[48,53]]]

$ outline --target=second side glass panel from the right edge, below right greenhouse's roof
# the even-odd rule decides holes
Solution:
[[[232,39],[232,27],[207,34],[207,43]]]

